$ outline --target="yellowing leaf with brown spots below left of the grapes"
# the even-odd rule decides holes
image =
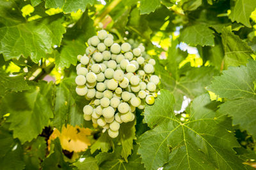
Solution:
[[[48,149],[50,149],[51,141],[59,138],[61,147],[69,152],[82,152],[91,145],[90,138],[91,130],[84,127],[63,125],[61,132],[58,129],[54,129],[49,140]]]

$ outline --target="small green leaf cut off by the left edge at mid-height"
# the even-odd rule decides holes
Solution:
[[[0,69],[0,97],[4,96],[7,92],[19,92],[28,89],[29,86],[24,79],[24,74],[9,76]]]

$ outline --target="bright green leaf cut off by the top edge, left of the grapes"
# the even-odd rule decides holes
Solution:
[[[94,0],[46,0],[45,8],[63,8],[63,12],[71,13],[77,10],[85,11],[88,4],[93,4]]]

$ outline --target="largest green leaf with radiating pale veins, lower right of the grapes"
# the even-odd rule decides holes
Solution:
[[[209,95],[194,99],[188,122],[175,117],[173,104],[173,95],[161,90],[156,104],[146,106],[145,122],[156,125],[138,140],[147,169],[244,169],[233,150],[239,144],[227,131],[232,129],[231,119],[214,112]]]

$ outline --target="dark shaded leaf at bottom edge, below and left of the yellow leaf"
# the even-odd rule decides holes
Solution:
[[[24,145],[24,162],[26,163],[26,170],[40,169],[40,160],[44,160],[46,155],[46,141],[45,138],[38,136],[31,143]]]

